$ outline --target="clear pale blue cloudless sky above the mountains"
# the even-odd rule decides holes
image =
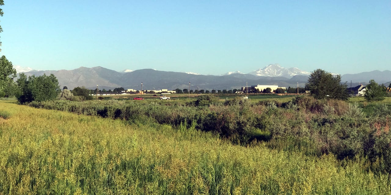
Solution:
[[[39,70],[391,70],[391,1],[4,0],[2,52]]]

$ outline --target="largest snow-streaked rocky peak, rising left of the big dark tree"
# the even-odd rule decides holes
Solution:
[[[283,76],[286,78],[292,78],[292,76],[295,75],[310,75],[310,73],[302,71],[298,68],[284,68],[281,67],[279,64],[269,64],[269,66],[252,71],[249,74],[253,74],[256,76]]]

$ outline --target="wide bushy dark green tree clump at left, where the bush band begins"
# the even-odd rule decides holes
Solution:
[[[17,94],[19,103],[57,99],[61,90],[54,74],[50,76],[43,74],[38,77],[32,75],[28,80],[24,73],[19,75],[20,78],[17,81],[20,88]]]

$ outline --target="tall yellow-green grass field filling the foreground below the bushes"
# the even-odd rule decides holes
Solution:
[[[0,194],[391,194],[389,175],[331,154],[4,102],[0,116]]]

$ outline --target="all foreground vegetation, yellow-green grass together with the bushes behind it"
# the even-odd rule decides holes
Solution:
[[[0,194],[391,194],[388,106],[364,113],[312,97],[30,106],[45,109],[0,103],[11,116],[0,119]]]

